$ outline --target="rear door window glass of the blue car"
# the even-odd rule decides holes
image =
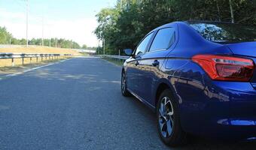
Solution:
[[[151,44],[149,51],[167,49],[175,42],[175,28],[163,28],[157,31],[157,35]]]

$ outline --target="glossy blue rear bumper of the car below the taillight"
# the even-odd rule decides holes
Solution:
[[[212,82],[196,104],[187,102],[188,132],[224,139],[256,139],[256,90],[251,83]],[[184,107],[183,107],[184,108]],[[187,125],[188,124],[188,125]]]

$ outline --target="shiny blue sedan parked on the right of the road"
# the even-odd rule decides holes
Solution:
[[[123,64],[121,91],[156,112],[160,139],[256,139],[256,28],[175,22],[149,32]]]

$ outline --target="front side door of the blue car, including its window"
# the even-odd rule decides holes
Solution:
[[[127,69],[126,69],[127,88],[136,95],[139,95],[138,78],[139,76],[141,76],[141,73],[139,71],[139,60],[148,49],[148,43],[150,43],[153,34],[154,32],[151,32],[143,38],[143,40],[137,46],[133,57],[130,58],[130,60],[127,62]]]

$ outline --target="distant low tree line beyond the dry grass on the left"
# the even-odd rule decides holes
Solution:
[[[5,27],[0,26],[0,44],[14,44],[14,45],[26,45],[26,39],[17,39],[13,37],[11,33],[7,31]],[[93,47],[87,47],[87,45],[80,46],[78,43],[72,40],[66,40],[64,38],[50,38],[41,40],[41,38],[32,38],[29,40],[29,45],[38,46],[52,46],[59,48],[73,48],[73,49],[96,49]]]

